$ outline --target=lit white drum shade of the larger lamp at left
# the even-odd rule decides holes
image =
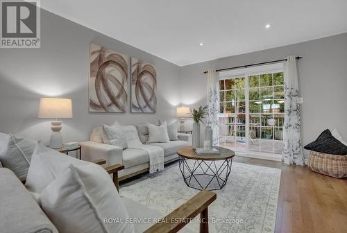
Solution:
[[[69,98],[40,98],[38,118],[72,118]]]

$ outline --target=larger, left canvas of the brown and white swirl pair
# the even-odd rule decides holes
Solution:
[[[90,112],[126,112],[128,56],[90,44]]]

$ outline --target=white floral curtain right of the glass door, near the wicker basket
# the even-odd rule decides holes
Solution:
[[[305,165],[300,140],[300,110],[298,105],[298,72],[296,58],[291,55],[284,62],[285,125],[283,126],[282,162],[289,165]]]

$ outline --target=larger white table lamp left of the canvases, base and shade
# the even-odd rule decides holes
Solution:
[[[72,101],[69,98],[40,98],[38,118],[53,118],[51,122],[51,140],[49,147],[52,149],[62,147],[62,121],[60,118],[72,118]]]

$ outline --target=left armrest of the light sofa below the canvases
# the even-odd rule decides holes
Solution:
[[[105,159],[106,163],[103,166],[123,164],[123,149],[119,146],[99,144],[94,141],[82,141],[78,144],[81,145],[83,160],[92,162],[97,159]]]

